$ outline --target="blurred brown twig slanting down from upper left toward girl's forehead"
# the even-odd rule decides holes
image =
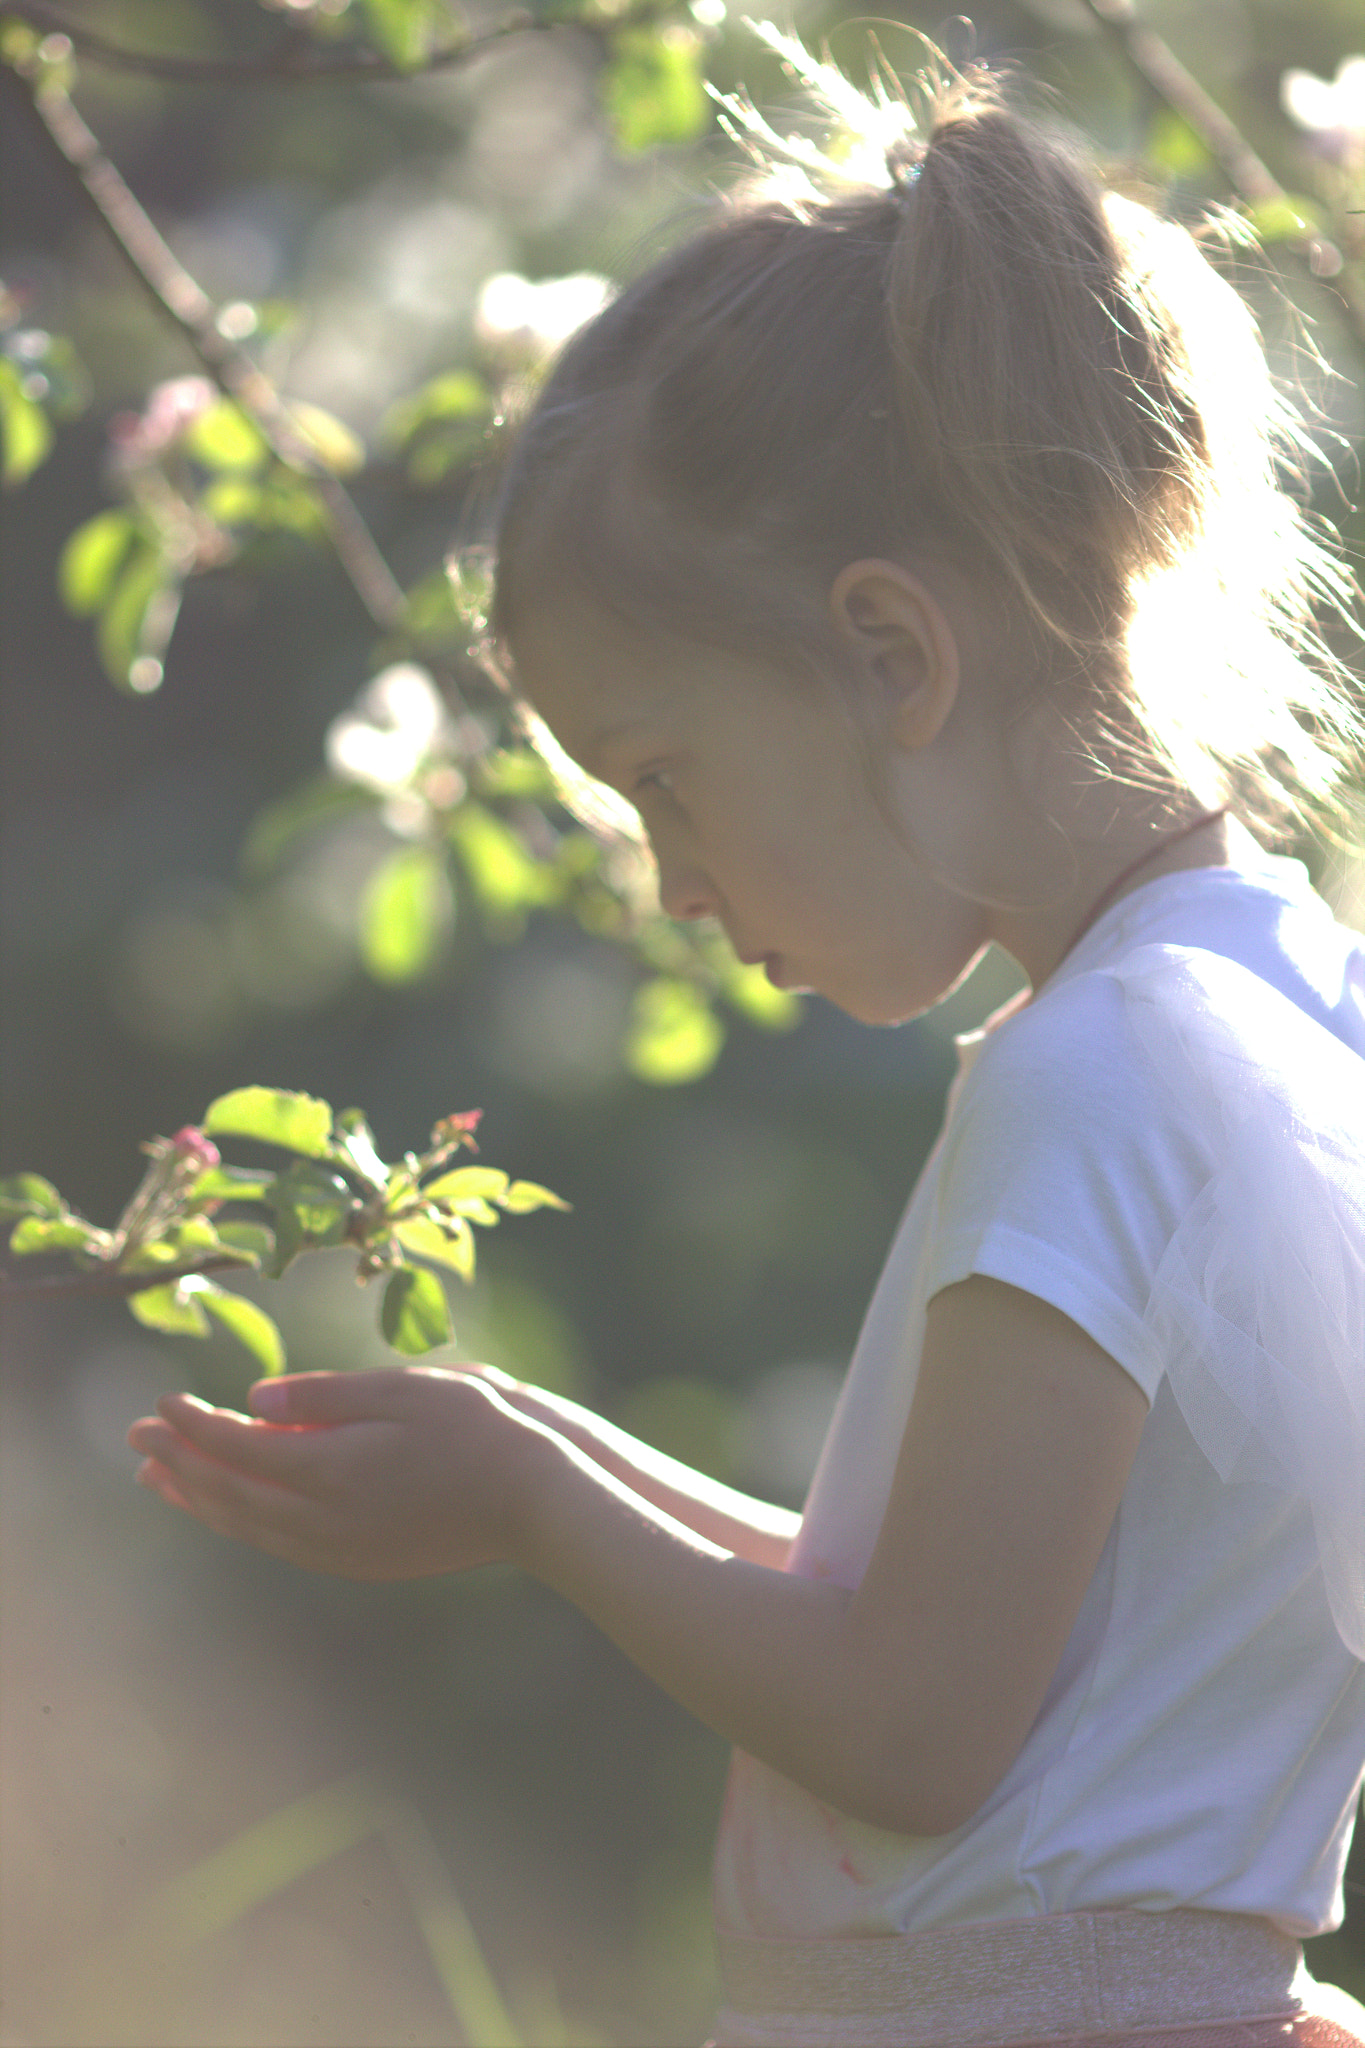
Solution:
[[[39,133],[49,143],[49,154],[55,154],[68,180],[94,209],[158,311],[174,322],[219,389],[254,420],[272,455],[311,481],[327,520],[336,557],[364,610],[383,633],[397,631],[405,616],[403,586],[381,555],[354,498],[317,461],[264,371],[244,348],[219,332],[219,309],[213,299],[176,258],[119,168],[104,156],[98,137],[76,111],[70,94],[51,82],[27,78],[8,63],[0,66],[0,80],[4,90],[37,123]]]

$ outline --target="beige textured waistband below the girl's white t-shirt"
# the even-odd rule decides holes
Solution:
[[[724,2048],[1005,2048],[1293,2019],[1297,1942],[1244,1913],[1050,1913],[868,1939],[720,1935]]]

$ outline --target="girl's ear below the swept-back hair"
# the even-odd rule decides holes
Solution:
[[[829,612],[878,692],[888,737],[931,745],[958,700],[958,637],[927,584],[894,561],[849,561],[829,588]]]

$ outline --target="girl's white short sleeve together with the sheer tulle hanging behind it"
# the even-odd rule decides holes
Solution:
[[[1308,1501],[1365,1659],[1365,1059],[1218,954],[1140,946],[986,1042],[943,1143],[929,1294],[1070,1315],[1222,1481]]]

